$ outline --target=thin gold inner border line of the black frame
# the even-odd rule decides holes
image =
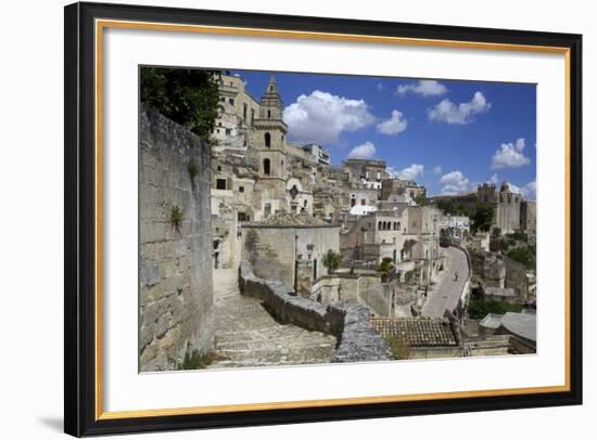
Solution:
[[[298,31],[298,30],[282,30],[282,29],[262,29],[251,27],[225,27],[225,26],[204,26],[204,25],[182,25],[182,24],[166,24],[151,22],[131,22],[118,20],[97,20],[94,23],[94,49],[96,49],[96,419],[122,419],[136,417],[154,417],[154,416],[173,416],[173,415],[192,415],[192,414],[208,414],[208,413],[230,413],[237,411],[265,411],[265,410],[288,410],[288,409],[305,409],[316,406],[339,406],[339,405],[358,405],[372,403],[397,403],[397,402],[414,402],[433,399],[461,399],[461,398],[478,398],[478,397],[498,397],[513,394],[531,394],[531,393],[547,393],[547,392],[567,392],[570,391],[570,49],[561,47],[548,46],[529,46],[529,44],[506,44],[492,42],[474,42],[474,41],[458,41],[458,40],[433,40],[423,38],[405,38],[405,37],[385,37],[371,35],[354,35],[354,34],[332,34],[332,33],[315,33],[315,31]],[[142,30],[160,30],[175,33],[196,33],[212,35],[237,35],[252,36],[264,38],[287,38],[287,39],[303,39],[303,40],[325,40],[325,41],[344,41],[344,42],[366,42],[366,43],[385,43],[385,44],[402,44],[402,46],[418,46],[418,47],[434,47],[434,48],[450,48],[450,49],[469,49],[469,50],[493,50],[493,51],[520,51],[535,53],[555,53],[564,55],[566,69],[566,109],[564,109],[564,168],[566,168],[566,292],[564,292],[564,367],[566,378],[563,385],[545,386],[545,387],[526,387],[526,388],[508,388],[493,390],[470,390],[470,391],[450,391],[435,393],[417,393],[417,394],[394,394],[394,396],[373,396],[373,397],[356,397],[343,399],[320,399],[320,400],[301,400],[288,402],[261,402],[261,403],[240,403],[227,405],[205,405],[191,407],[174,407],[174,409],[156,409],[156,410],[132,410],[132,411],[103,411],[103,30],[105,28],[119,29],[142,29]]]

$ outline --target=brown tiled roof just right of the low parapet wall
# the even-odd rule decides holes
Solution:
[[[440,318],[372,318],[379,334],[389,338],[401,336],[410,347],[456,346],[449,323]]]

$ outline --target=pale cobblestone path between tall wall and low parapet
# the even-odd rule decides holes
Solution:
[[[238,272],[214,271],[217,360],[209,368],[328,363],[335,338],[278,324],[255,298],[242,296]]]

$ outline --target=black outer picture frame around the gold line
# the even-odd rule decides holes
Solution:
[[[73,436],[255,426],[582,403],[582,36],[102,3],[65,7],[64,430]],[[570,56],[569,390],[132,418],[97,417],[94,21],[97,18],[557,47]]]

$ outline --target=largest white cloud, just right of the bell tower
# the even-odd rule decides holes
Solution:
[[[364,100],[351,100],[315,90],[302,94],[284,108],[289,135],[298,142],[338,142],[343,131],[356,131],[373,124],[374,117]]]

